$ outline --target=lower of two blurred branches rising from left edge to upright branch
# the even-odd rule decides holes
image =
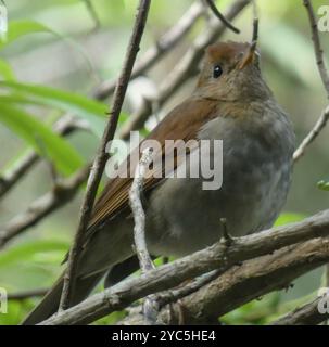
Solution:
[[[29,207],[15,216],[0,228],[0,249],[13,237],[35,226],[46,216],[65,206],[87,180],[89,165],[78,170],[74,176],[61,180],[43,196],[36,200]]]

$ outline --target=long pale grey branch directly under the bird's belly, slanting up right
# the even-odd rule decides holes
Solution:
[[[325,210],[299,223],[237,237],[229,247],[218,242],[203,250],[151,270],[140,278],[127,279],[102,293],[93,295],[79,305],[67,309],[65,312],[59,312],[55,317],[51,317],[41,324],[90,323],[105,314],[129,306],[137,299],[177,286],[185,280],[195,278],[215,269],[223,273],[228,268],[241,261],[269,254],[298,242],[315,237],[325,237],[328,234],[329,210]],[[321,261],[328,261],[328,240],[320,240],[319,247],[324,248],[321,248],[322,257],[326,250],[326,259]],[[289,254],[292,253],[288,252],[288,256]],[[315,258],[314,253],[312,255],[313,258]],[[312,255],[308,255],[308,258],[305,260],[305,267],[308,266],[307,270],[309,270],[312,266],[315,267],[321,262],[318,258],[316,258],[318,262],[312,262]],[[255,262],[258,264],[257,261]],[[271,262],[269,262],[268,266],[270,266],[270,264]],[[265,271],[266,267],[263,266],[261,270]],[[298,275],[298,272],[294,271],[293,274]],[[230,281],[226,281],[230,283]],[[255,292],[255,287],[253,287],[253,292]],[[240,288],[238,297],[241,297],[241,293],[243,293],[243,290],[241,291]]]

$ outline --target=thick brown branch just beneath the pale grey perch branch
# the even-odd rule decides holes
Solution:
[[[185,324],[217,324],[218,317],[273,291],[287,288],[294,279],[326,264],[328,248],[328,237],[314,239],[244,261],[181,299],[179,306],[164,308],[159,319],[164,324],[175,324],[182,310]],[[142,324],[143,318],[134,314],[121,323],[130,321]]]

